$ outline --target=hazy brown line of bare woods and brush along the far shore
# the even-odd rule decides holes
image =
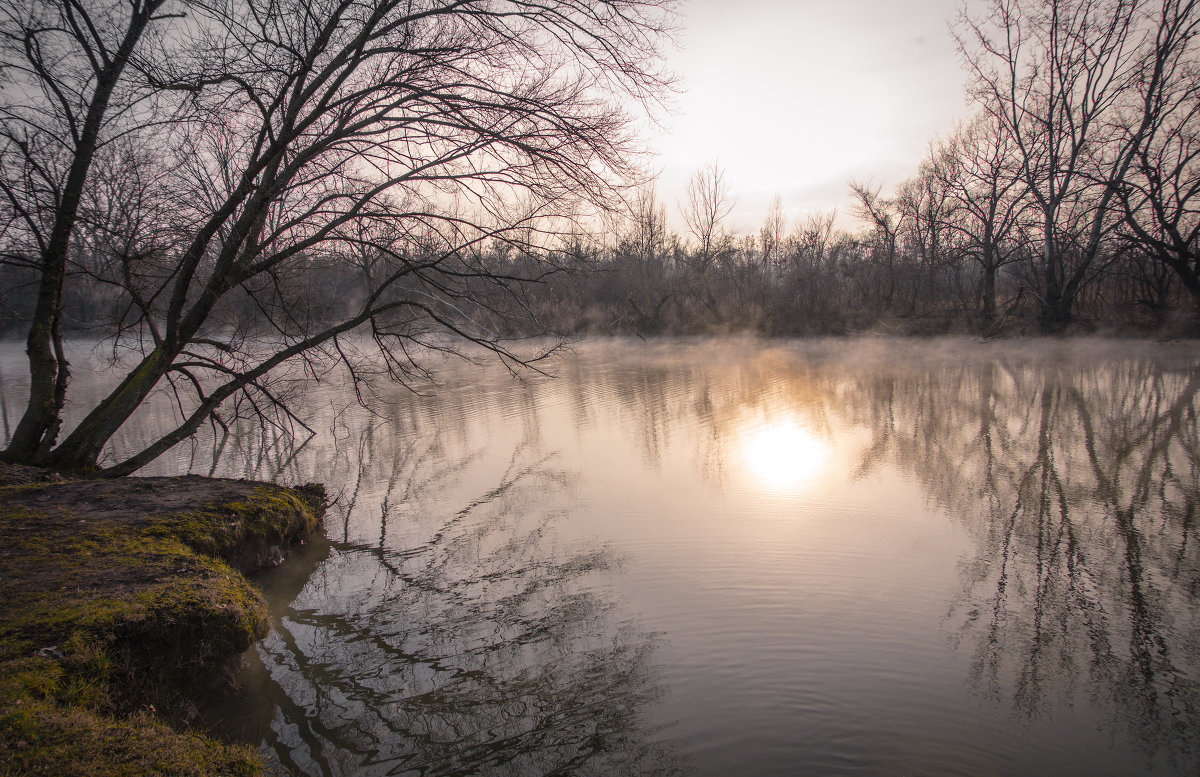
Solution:
[[[960,161],[943,153],[940,149],[938,158],[924,162],[892,197],[856,186],[854,215],[863,227],[853,231],[836,228],[834,212],[788,224],[776,199],[760,234],[734,235],[718,223],[706,245],[695,234],[671,231],[666,206],[647,189],[619,231],[575,235],[553,249],[494,241],[476,249],[480,265],[539,281],[520,302],[509,299],[481,323],[505,335],[1194,333],[1195,291],[1158,257],[1154,240],[1139,235],[1120,212],[1106,216],[1111,224],[1091,254],[1079,235],[1062,230],[1062,261],[1081,277],[1069,318],[1043,320],[1045,258],[1031,203],[1010,187],[1002,204],[1008,221],[989,254],[972,223],[978,215],[967,198],[976,189],[943,177],[961,174]],[[1196,230],[1190,231],[1194,266]],[[124,289],[104,279],[103,267],[76,264],[65,329],[108,335],[127,305]],[[354,264],[313,261],[302,273],[272,279],[269,289],[230,295],[223,319],[265,325],[264,293],[287,297],[289,287],[305,285],[326,294],[325,309],[307,314],[335,320],[368,284]],[[22,289],[36,290],[36,276],[0,265],[0,288],[11,290],[0,301],[0,331],[23,336],[36,294]]]

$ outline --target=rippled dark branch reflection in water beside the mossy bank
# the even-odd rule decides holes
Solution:
[[[259,706],[224,728],[305,775],[680,773],[643,722],[656,639],[588,586],[612,554],[556,542],[570,475],[522,440],[491,487],[421,514],[485,451],[448,462],[452,427],[406,420],[338,438],[354,451],[335,460],[360,470],[332,511],[344,534],[302,590],[269,590],[274,628],[242,679]],[[352,536],[348,513],[372,508],[378,538]]]

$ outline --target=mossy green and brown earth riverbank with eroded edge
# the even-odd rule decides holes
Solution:
[[[0,465],[0,773],[260,773],[190,723],[266,633],[246,574],[323,511],[319,486]]]

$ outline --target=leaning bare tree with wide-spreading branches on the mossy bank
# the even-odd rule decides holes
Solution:
[[[181,422],[106,474],[133,471],[220,422],[232,397],[286,412],[269,380],[277,367],[324,356],[358,374],[352,332],[371,337],[397,379],[419,369],[413,348],[452,348],[445,335],[518,360],[490,323],[527,312],[524,284],[553,267],[510,272],[472,247],[557,231],[581,201],[608,207],[637,176],[632,122],[613,97],[644,107],[668,88],[656,46],[671,5],[190,5],[167,37],[191,54],[160,61],[161,76],[143,68],[188,108],[160,131],[163,151],[145,164],[162,199],[136,221],[169,239],[145,241],[109,278],[137,363],[60,444],[52,409],[7,457],[94,468],[166,379]],[[31,72],[48,90],[60,80]],[[160,118],[152,106],[127,113],[137,126]],[[308,279],[348,263],[356,294],[332,306]],[[41,397],[47,375],[34,379]]]

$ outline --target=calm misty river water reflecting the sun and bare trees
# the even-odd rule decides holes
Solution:
[[[1198,354],[592,341],[143,474],[336,498],[222,712],[298,773],[1195,773]]]

